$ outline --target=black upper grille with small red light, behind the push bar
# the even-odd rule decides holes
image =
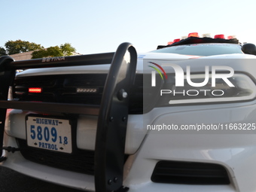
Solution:
[[[16,78],[14,81],[14,99],[35,102],[78,103],[100,105],[105,86],[106,74],[86,75],[43,75]],[[42,93],[29,93],[29,87],[41,87]],[[77,93],[78,88],[93,89],[94,93]],[[142,114],[143,77],[136,75],[130,94],[130,114]]]

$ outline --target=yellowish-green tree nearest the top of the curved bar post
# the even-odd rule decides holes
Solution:
[[[32,59],[52,57],[52,56],[70,56],[75,52],[75,47],[71,44],[61,44],[60,46],[48,47],[47,49],[35,50],[32,53]]]

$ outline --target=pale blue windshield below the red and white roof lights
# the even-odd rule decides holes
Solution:
[[[182,55],[212,56],[242,53],[239,44],[185,44],[153,50],[154,53],[177,53]]]

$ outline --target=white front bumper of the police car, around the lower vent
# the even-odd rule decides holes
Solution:
[[[14,110],[5,127],[5,146],[18,147],[15,138],[26,139],[25,116],[27,112]],[[256,103],[233,103],[221,105],[190,105],[172,108],[154,108],[148,114],[130,116],[126,134],[126,154],[123,185],[129,191],[254,191],[252,178],[256,177],[256,135],[246,131],[212,133],[209,130],[176,133],[172,130],[145,130],[145,125],[195,123],[255,123]],[[90,119],[90,120],[89,120]],[[93,148],[96,117],[78,120],[77,145],[81,149]],[[94,119],[94,120],[93,120]],[[143,120],[142,120],[143,119]],[[11,122],[11,123],[10,123]],[[90,125],[83,126],[84,123]],[[89,131],[90,130],[90,131]],[[94,130],[94,132],[93,132]],[[209,131],[209,132],[208,132]],[[251,131],[251,130],[250,130]],[[81,134],[83,135],[79,139]],[[132,147],[131,147],[132,146]],[[82,190],[94,190],[93,175],[70,172],[32,163],[20,152],[5,154],[8,160],[2,166],[17,172]],[[180,161],[214,163],[227,170],[230,184],[165,184],[151,181],[157,162]]]

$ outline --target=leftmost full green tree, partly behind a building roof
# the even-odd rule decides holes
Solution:
[[[44,47],[41,44],[31,43],[29,41],[7,41],[5,43],[5,51],[8,55],[17,54],[17,53],[24,53],[30,50],[39,50],[43,49]]]

